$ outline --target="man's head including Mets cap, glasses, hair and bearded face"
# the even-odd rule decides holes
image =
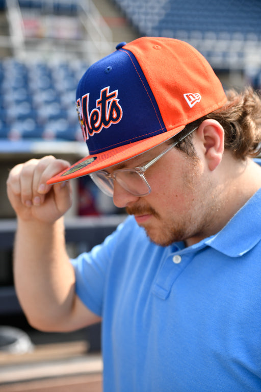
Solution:
[[[90,174],[163,246],[214,234],[241,204],[231,194],[243,181],[234,179],[259,143],[259,98],[252,90],[230,95],[227,101],[211,66],[186,42],[119,44],[77,88],[90,155],[48,183]]]

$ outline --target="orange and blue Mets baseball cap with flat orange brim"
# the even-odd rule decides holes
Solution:
[[[189,43],[141,37],[91,65],[76,90],[89,154],[48,181],[85,176],[142,154],[226,102],[221,82]]]

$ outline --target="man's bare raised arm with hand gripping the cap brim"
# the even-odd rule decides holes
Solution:
[[[71,206],[69,182],[46,181],[68,167],[52,156],[12,168],[7,193],[17,215],[14,279],[28,321],[37,329],[69,331],[97,322],[74,291],[62,216]]]

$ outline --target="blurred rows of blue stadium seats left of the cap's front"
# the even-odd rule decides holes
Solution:
[[[0,139],[82,140],[75,110],[85,61],[0,61]]]

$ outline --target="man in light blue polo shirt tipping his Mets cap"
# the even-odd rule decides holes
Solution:
[[[193,47],[121,43],[76,92],[89,154],[15,166],[14,276],[29,322],[102,320],[105,391],[261,389],[261,103],[227,97]],[[71,178],[91,174],[129,216],[69,260]]]

